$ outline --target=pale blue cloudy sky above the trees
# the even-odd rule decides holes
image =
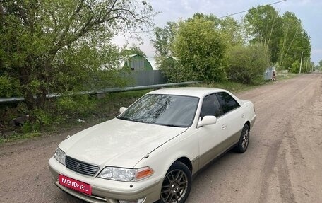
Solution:
[[[194,13],[214,14],[217,17],[227,16],[241,11],[247,11],[258,5],[273,4],[272,6],[282,16],[283,13],[290,11],[302,21],[304,30],[311,37],[311,62],[318,64],[322,60],[322,0],[148,0],[157,12],[153,21],[155,26],[164,27],[168,21],[177,22],[179,19],[186,19]],[[232,16],[240,20],[244,13]],[[152,28],[151,28],[152,29]],[[119,36],[114,39],[118,45],[129,42],[131,45],[138,45],[148,57],[154,57],[155,50],[150,42],[153,32],[142,34],[143,43],[132,40],[129,35]],[[300,58],[301,56],[299,56]]]

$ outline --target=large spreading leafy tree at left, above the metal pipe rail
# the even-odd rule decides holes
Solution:
[[[112,37],[150,25],[155,13],[146,1],[25,0],[1,1],[0,15],[0,72],[19,79],[33,109],[119,62]]]

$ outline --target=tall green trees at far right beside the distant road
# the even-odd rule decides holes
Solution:
[[[271,54],[270,62],[281,69],[290,69],[302,52],[305,59],[310,58],[310,37],[294,13],[280,16],[273,6],[257,6],[244,17],[244,28],[250,42],[263,43]]]

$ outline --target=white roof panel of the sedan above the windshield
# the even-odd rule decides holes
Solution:
[[[203,87],[183,87],[183,88],[162,88],[156,91],[151,91],[149,94],[167,94],[167,95],[188,95],[198,98],[203,98],[210,93],[225,91],[219,88],[203,88]]]

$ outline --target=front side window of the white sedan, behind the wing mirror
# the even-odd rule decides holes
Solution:
[[[222,115],[222,109],[215,94],[207,95],[203,98],[203,106],[200,113],[201,120],[203,120],[205,115],[214,115],[215,117]]]

